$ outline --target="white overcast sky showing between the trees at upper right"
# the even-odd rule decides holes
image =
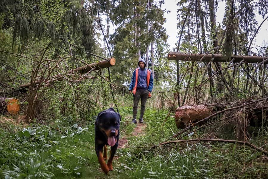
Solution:
[[[164,27],[166,28],[166,32],[169,35],[168,43],[171,45],[171,49],[176,47],[178,41],[178,32],[180,29],[177,29],[177,3],[180,0],[166,0],[165,4],[162,4],[161,9],[170,10],[171,12],[165,14],[166,23]],[[216,21],[217,24],[222,22],[223,15],[225,13],[225,3],[222,1],[219,2],[218,12],[216,13]],[[266,17],[264,17],[266,18]],[[264,20],[261,16],[256,17],[259,24]],[[253,41],[255,45],[261,46],[263,40],[268,41],[268,20],[262,24],[261,30],[256,35],[255,40]]]

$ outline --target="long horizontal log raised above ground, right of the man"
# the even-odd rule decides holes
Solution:
[[[204,57],[204,58],[203,58]],[[202,58],[202,60],[201,60]],[[264,60],[264,64],[268,63],[268,57],[259,57],[259,56],[242,56],[242,55],[231,55],[230,59],[223,58],[222,54],[188,54],[188,53],[178,53],[178,52],[170,52],[168,54],[169,60],[177,60],[177,61],[206,61],[209,62],[214,58],[215,62],[230,62],[234,58],[234,63],[239,63],[244,59],[247,63],[260,63]]]

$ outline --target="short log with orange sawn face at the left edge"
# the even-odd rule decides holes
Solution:
[[[0,111],[17,115],[20,111],[21,104],[15,98],[0,98]]]

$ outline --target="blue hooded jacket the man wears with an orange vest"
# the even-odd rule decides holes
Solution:
[[[142,61],[145,64],[145,61],[143,59],[141,59],[138,61],[138,65],[139,65],[140,61]],[[135,86],[135,81],[136,81],[136,73],[134,71],[132,78],[131,78],[129,88],[128,88],[129,91],[133,90],[133,88]],[[147,88],[147,68],[142,69],[141,67],[139,67],[137,90],[148,90],[149,92],[152,92],[153,86],[154,86],[154,83],[153,83],[152,73],[150,75],[149,86]]]

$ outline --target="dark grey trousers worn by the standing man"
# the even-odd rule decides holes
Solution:
[[[134,95],[134,104],[133,104],[133,119],[136,119],[137,117],[137,109],[138,104],[141,98],[141,115],[140,118],[143,118],[144,111],[145,111],[145,104],[148,98],[148,90],[137,90],[136,94]]]

